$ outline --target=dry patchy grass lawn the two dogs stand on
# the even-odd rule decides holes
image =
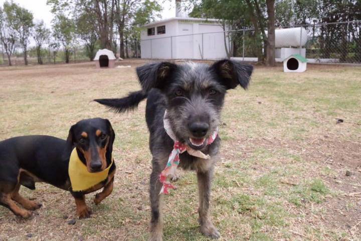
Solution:
[[[43,203],[30,220],[0,207],[0,240],[146,240],[151,171],[145,103],[114,114],[91,102],[137,90],[134,67],[93,64],[0,69],[0,139],[66,138],[82,118],[109,118],[117,134],[115,189],[93,216],[74,218],[71,195],[47,184],[21,192]],[[309,66],[301,74],[256,67],[250,89],[229,91],[212,216],[221,240],[361,239],[361,68]],[[336,118],[344,119],[336,124]],[[346,176],[345,172],[351,172]],[[194,173],[165,198],[165,240],[208,240],[197,223]],[[27,237],[27,235],[31,237]]]

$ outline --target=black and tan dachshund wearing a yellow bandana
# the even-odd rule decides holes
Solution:
[[[114,138],[107,119],[92,118],[72,126],[66,141],[51,136],[23,136],[0,142],[0,204],[16,215],[28,218],[32,215],[29,210],[38,209],[41,204],[22,197],[19,188],[23,185],[34,190],[35,182],[45,182],[70,191],[75,198],[78,217],[89,217],[91,210],[84,195],[104,187],[95,196],[94,202],[98,204],[113,190],[116,170],[112,159]],[[69,174],[71,156],[76,157],[80,163],[77,165],[83,165],[85,175],[97,175],[106,170],[106,176],[91,187],[75,191]],[[83,179],[78,179],[82,186]]]

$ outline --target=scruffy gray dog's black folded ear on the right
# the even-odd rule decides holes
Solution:
[[[238,85],[247,89],[253,71],[253,66],[224,59],[215,62],[211,66],[211,69],[216,72],[221,83],[225,85],[227,89],[234,89]]]

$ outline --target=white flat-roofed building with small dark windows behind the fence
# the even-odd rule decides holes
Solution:
[[[177,14],[178,15],[178,14]],[[179,15],[178,15],[179,16]],[[226,58],[229,40],[216,19],[175,17],[143,26],[141,58],[221,59]]]

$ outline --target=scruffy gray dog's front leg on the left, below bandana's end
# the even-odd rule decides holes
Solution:
[[[153,161],[154,163],[154,161]],[[162,220],[162,202],[163,194],[159,195],[162,184],[159,182],[159,168],[157,164],[153,165],[153,170],[150,175],[150,206],[151,206],[151,220],[150,220],[150,241],[161,241],[163,239],[163,220]]]

